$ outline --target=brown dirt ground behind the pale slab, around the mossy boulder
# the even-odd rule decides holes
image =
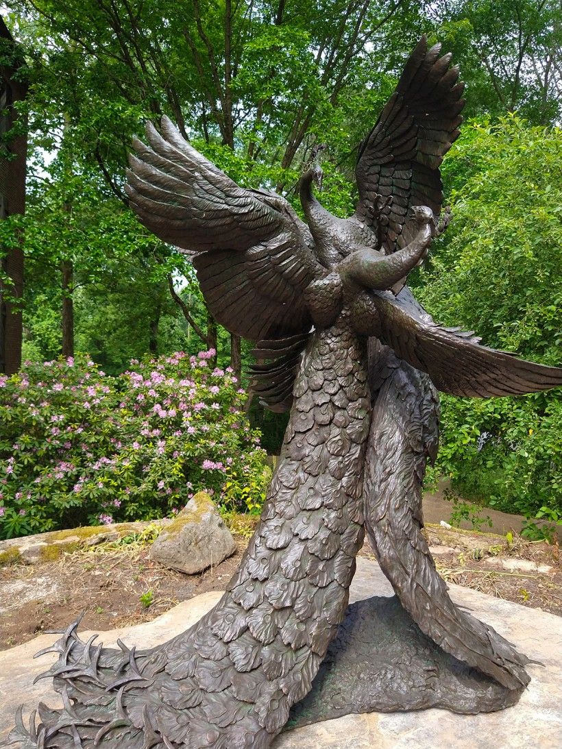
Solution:
[[[139,624],[199,593],[222,590],[247,545],[202,574],[163,568],[149,548],[106,545],[64,554],[40,565],[0,568],[0,650],[52,629],[85,611],[81,627],[103,631]],[[562,562],[558,545],[525,542],[466,530],[427,528],[438,570],[447,582],[562,616]],[[372,557],[365,545],[360,552]],[[372,557],[374,558],[374,557]]]

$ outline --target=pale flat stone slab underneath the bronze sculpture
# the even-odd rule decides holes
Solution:
[[[347,715],[332,721],[283,733],[273,749],[561,749],[562,747],[562,619],[471,589],[450,586],[451,596],[534,661],[531,685],[519,703],[501,712],[456,715],[429,709],[404,713]],[[374,562],[359,558],[351,586],[351,601],[372,595],[392,595],[392,589]],[[117,638],[139,649],[169,640],[203,616],[220,598],[211,592],[184,601],[152,622],[103,632],[100,640],[115,646]],[[82,639],[91,633],[82,633]],[[49,646],[54,635],[41,635],[25,645],[0,653],[0,738],[13,726],[16,707],[25,712],[41,700],[55,705],[58,695],[48,679],[32,686],[34,676],[46,670],[49,658],[33,655]]]

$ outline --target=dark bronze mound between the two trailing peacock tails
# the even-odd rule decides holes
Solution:
[[[349,713],[405,712],[440,707],[474,714],[514,705],[509,690],[447,655],[393,596],[348,607],[345,622],[285,730]]]

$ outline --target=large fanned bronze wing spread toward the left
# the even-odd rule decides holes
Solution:
[[[160,239],[196,253],[205,302],[250,340],[310,329],[302,292],[320,266],[306,225],[287,201],[243,189],[189,145],[168,118],[134,141],[126,191]]]

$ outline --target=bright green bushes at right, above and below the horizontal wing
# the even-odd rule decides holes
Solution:
[[[417,289],[440,321],[558,364],[562,131],[515,115],[471,121],[444,168],[454,221]],[[562,400],[443,396],[438,469],[465,497],[534,516],[562,506]]]

